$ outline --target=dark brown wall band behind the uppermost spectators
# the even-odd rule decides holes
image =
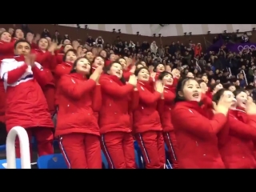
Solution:
[[[16,28],[20,28],[20,24],[15,24]],[[4,27],[6,30],[8,30],[9,27],[14,28],[13,24],[0,24],[0,28]],[[50,31],[50,34],[54,34],[55,30],[58,30],[61,35],[69,34],[71,39],[82,39],[83,42],[86,41],[86,38],[88,35],[91,35],[93,38],[97,38],[98,36],[102,36],[105,42],[114,42],[114,39],[119,35],[123,41],[129,42],[130,40],[134,42],[140,42],[143,41],[157,42],[157,45],[170,45],[171,42],[183,42],[185,45],[189,42],[189,40],[192,40],[194,43],[201,42],[202,48],[206,48],[205,40],[208,42],[212,42],[214,36],[217,34],[200,34],[200,35],[192,35],[192,36],[170,36],[170,37],[163,37],[161,38],[154,38],[154,37],[148,37],[148,36],[142,36],[142,35],[135,35],[135,34],[118,34],[118,33],[112,33],[109,31],[102,31],[102,30],[85,30],[85,29],[76,29],[74,27],[68,27],[68,26],[54,26],[51,24],[29,24],[30,30],[32,30],[34,33],[42,33],[43,29],[48,29]],[[250,36],[251,42],[256,42],[256,31],[252,33],[253,35]],[[207,43],[209,46],[209,43]]]

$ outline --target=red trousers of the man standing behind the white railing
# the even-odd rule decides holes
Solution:
[[[46,155],[46,154],[54,154],[54,133],[53,130],[46,127],[34,127],[34,128],[27,128],[26,133],[28,134],[29,141],[30,141],[30,158],[32,160],[32,136],[34,136],[37,140],[38,144],[38,156]],[[15,150],[16,150],[16,158],[20,158],[20,146],[18,138],[15,142]]]

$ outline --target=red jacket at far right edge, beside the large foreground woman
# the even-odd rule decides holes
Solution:
[[[220,147],[222,160],[226,168],[254,169],[254,143],[256,140],[256,115],[247,116],[247,123],[242,122],[240,110],[229,111],[229,137],[226,145]]]

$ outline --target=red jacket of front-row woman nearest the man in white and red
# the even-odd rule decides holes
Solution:
[[[70,133],[99,135],[94,111],[102,105],[101,87],[82,74],[66,74],[58,83],[58,122],[55,136]]]

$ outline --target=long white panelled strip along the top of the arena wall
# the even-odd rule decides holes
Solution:
[[[58,24],[60,26],[77,27],[77,24]],[[145,36],[152,36],[153,34],[162,34],[163,37],[167,36],[180,36],[184,33],[189,34],[207,34],[210,31],[211,34],[221,34],[224,30],[228,33],[245,32],[250,31],[256,27],[256,24],[79,24],[81,28],[85,25],[90,30],[104,30],[104,31],[116,31],[121,30],[123,34],[139,34]]]

